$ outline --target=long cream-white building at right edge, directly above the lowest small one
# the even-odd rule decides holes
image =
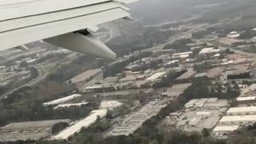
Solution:
[[[224,116],[219,121],[221,125],[252,125],[256,122],[256,115]]]

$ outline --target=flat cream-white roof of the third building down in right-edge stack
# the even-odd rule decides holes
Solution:
[[[256,122],[256,115],[224,116],[219,122]]]

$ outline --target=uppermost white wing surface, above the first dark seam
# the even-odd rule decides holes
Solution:
[[[46,14],[60,10],[90,6],[111,0],[37,0],[28,2],[2,2],[0,5],[0,21]]]

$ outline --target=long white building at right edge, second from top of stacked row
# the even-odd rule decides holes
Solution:
[[[226,115],[252,115],[256,114],[256,106],[231,107],[226,111]]]

